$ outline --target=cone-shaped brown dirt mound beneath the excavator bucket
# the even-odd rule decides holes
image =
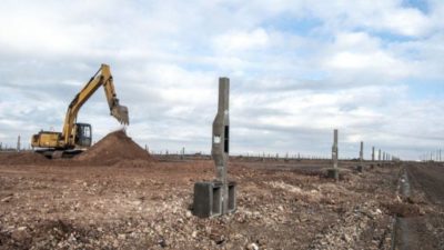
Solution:
[[[94,166],[112,166],[133,160],[153,161],[150,154],[129,138],[123,130],[109,133],[73,160]]]

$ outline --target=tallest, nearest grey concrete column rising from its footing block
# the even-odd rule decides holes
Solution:
[[[213,122],[211,156],[216,168],[216,180],[222,183],[222,214],[228,212],[229,189],[226,164],[230,151],[230,113],[229,113],[230,79],[219,79],[218,114]]]

